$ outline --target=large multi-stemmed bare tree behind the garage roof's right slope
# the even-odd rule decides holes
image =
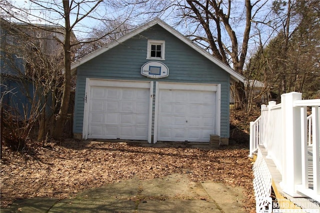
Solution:
[[[190,26],[187,36],[236,72],[243,74],[251,22],[265,4],[257,6],[258,2],[245,0],[239,5],[238,1],[231,0],[187,0],[186,4],[179,4],[180,16]],[[239,26],[242,27],[242,34],[237,34]],[[236,108],[243,108],[246,102],[243,83],[236,82],[235,91]]]

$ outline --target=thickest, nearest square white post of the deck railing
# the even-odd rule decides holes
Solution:
[[[300,109],[293,107],[294,101],[301,100],[302,94],[290,92],[281,95],[283,125],[283,165],[281,188],[292,197],[297,197],[295,185],[301,184],[301,133]]]

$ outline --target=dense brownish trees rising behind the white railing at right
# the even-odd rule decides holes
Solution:
[[[317,1],[272,2],[272,21],[263,24],[274,35],[255,51],[250,67],[251,77],[269,85],[278,101],[282,93],[291,91],[312,98],[319,88],[319,7]]]

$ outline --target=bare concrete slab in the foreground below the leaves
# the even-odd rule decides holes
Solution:
[[[195,183],[185,174],[173,174],[151,180],[135,177],[86,190],[67,200],[26,199],[1,213],[242,213],[242,199],[238,188]]]

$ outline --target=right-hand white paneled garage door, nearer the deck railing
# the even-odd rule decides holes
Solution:
[[[214,86],[160,86],[157,141],[209,142],[210,134],[216,134],[216,91],[212,90]]]

